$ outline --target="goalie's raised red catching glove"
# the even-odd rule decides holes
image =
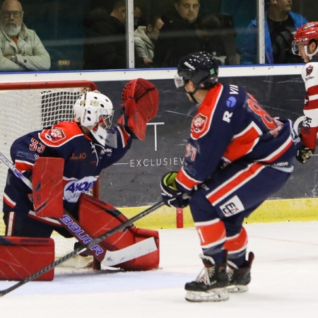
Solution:
[[[146,124],[158,112],[158,89],[150,81],[136,78],[126,84],[122,91],[122,99],[129,129],[138,139],[145,140]],[[123,124],[122,118],[118,123]]]

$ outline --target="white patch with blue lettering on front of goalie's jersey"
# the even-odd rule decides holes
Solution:
[[[64,199],[70,203],[76,203],[81,193],[88,192],[93,188],[97,177],[83,177],[82,179],[71,180],[64,186]]]

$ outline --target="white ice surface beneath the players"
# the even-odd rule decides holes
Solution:
[[[255,254],[247,293],[225,302],[187,302],[184,283],[202,268],[193,228],[160,230],[160,269],[57,269],[0,298],[0,318],[318,317],[318,222],[245,225]],[[16,282],[0,281],[0,290]]]

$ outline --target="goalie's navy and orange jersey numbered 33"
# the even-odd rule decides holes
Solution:
[[[124,126],[116,126],[107,134],[107,144],[110,146],[103,147],[83,134],[77,122],[59,122],[16,139],[11,146],[11,158],[18,170],[28,178],[32,178],[37,158],[63,158],[64,208],[76,217],[76,203],[81,193],[92,189],[102,169],[125,155],[133,136]],[[4,212],[14,211],[39,219],[28,198],[31,193],[32,190],[9,170],[4,189]],[[51,219],[42,221],[57,225]]]

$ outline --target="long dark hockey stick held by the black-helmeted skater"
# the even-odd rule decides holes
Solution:
[[[116,233],[120,230],[124,230],[124,228],[127,228],[129,225],[135,223],[136,220],[139,220],[139,219],[143,218],[144,216],[147,216],[149,213],[157,210],[158,208],[160,208],[160,206],[163,206],[163,205],[164,205],[164,202],[159,201],[158,203],[154,204],[150,208],[147,208],[145,211],[142,211],[141,213],[137,214],[136,216],[134,216],[132,218],[129,218],[129,220],[126,220],[124,223],[117,225],[115,228],[112,228],[112,230],[105,232],[105,234],[100,235],[99,237],[96,237],[95,240],[89,242],[88,244],[83,245],[81,247],[78,247],[73,252],[66,254],[61,259],[58,259],[57,261],[54,261],[52,264],[49,264],[49,265],[43,267],[43,269],[40,269],[40,271],[33,273],[32,275],[28,276],[27,278],[23,279],[22,281],[19,281],[15,285],[12,285],[11,287],[6,288],[4,290],[0,290],[0,297],[10,293],[13,290],[16,290],[17,288],[24,285],[25,283],[28,283],[29,281],[33,281],[35,278],[41,276],[42,274],[46,273],[47,271],[50,271],[51,269],[53,269],[56,266],[59,266],[59,264],[64,263],[64,261],[71,259],[71,257],[75,256],[76,254],[81,254],[82,252],[85,252],[86,249],[89,249],[90,247],[97,245],[99,242],[106,240],[107,237],[110,237],[114,233]]]

